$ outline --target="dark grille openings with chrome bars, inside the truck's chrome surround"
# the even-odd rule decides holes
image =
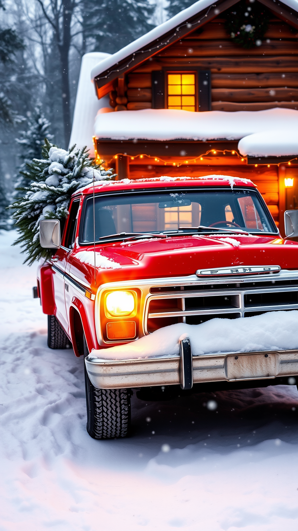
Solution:
[[[163,286],[163,292],[159,291],[159,294],[159,288],[152,287],[145,311],[146,333],[179,322],[199,324],[216,317],[237,319],[270,311],[298,310],[298,282],[294,280],[294,283],[245,282],[241,288],[237,283],[233,288],[231,285],[210,284],[187,286],[189,289],[185,289],[186,286]],[[243,289],[245,284],[253,289]],[[235,285],[238,289],[234,288]]]

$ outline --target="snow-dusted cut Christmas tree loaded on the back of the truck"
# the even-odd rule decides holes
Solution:
[[[40,258],[48,259],[55,250],[42,249],[39,244],[41,219],[65,220],[73,192],[95,181],[110,179],[113,170],[105,171],[93,163],[86,148],[73,145],[68,151],[45,139],[42,159],[27,162],[28,170],[20,172],[28,186],[19,187],[21,197],[10,205],[20,236],[13,245],[20,244],[24,260],[31,265]]]

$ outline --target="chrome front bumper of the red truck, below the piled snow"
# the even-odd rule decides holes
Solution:
[[[167,386],[193,383],[274,379],[298,374],[298,350],[226,352],[192,356],[188,338],[180,341],[179,356],[146,359],[102,359],[92,350],[85,359],[91,383],[98,389]]]

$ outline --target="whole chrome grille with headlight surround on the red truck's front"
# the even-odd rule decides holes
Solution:
[[[95,299],[109,289],[138,289],[139,337],[174,323],[199,324],[216,317],[238,319],[278,310],[298,310],[298,270],[273,275],[199,279],[196,275],[135,279],[102,284]],[[96,319],[99,345],[108,344]],[[127,341],[115,341],[115,344]]]

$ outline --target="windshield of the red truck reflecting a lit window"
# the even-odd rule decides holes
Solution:
[[[183,190],[95,197],[95,241],[120,233],[190,233],[195,227],[253,233],[277,229],[254,190]],[[208,231],[207,231],[208,232]],[[93,242],[93,197],[87,198],[82,243]]]

